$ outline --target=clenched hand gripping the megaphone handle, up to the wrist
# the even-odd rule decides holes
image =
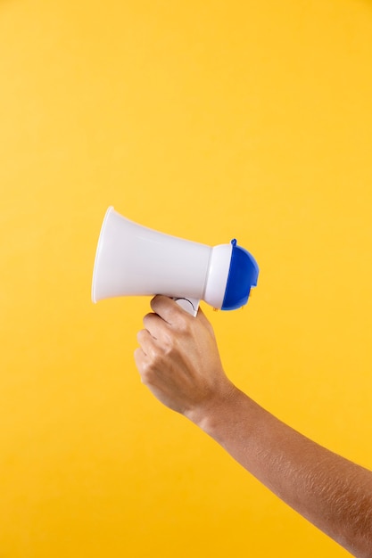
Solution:
[[[196,422],[235,389],[223,371],[213,329],[201,308],[194,317],[164,296],[154,297],[151,307],[137,334],[136,366],[161,403]]]

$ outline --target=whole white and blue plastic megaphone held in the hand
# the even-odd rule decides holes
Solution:
[[[196,316],[204,300],[213,308],[244,306],[257,285],[259,267],[237,245],[191,242],[107,209],[95,254],[92,300],[164,294]]]

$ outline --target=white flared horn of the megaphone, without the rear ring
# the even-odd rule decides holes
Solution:
[[[202,300],[211,250],[137,225],[109,208],[95,255],[92,300],[154,294]]]

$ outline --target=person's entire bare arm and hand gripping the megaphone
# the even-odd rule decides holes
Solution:
[[[282,423],[227,378],[211,323],[157,296],[136,366],[161,403],[215,439],[260,482],[351,554],[372,557],[372,472]]]

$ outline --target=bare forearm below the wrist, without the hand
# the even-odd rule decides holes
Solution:
[[[352,554],[372,556],[372,472],[302,436],[240,390],[189,418]]]

